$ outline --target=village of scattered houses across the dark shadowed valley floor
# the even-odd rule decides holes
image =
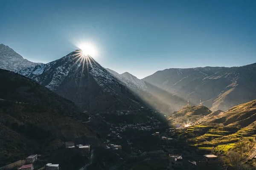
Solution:
[[[131,157],[137,158],[144,157],[148,153],[155,153],[156,155],[159,153],[165,154],[166,158],[168,157],[168,159],[165,159],[166,168],[169,170],[218,169],[218,156],[209,153],[198,153],[195,148],[189,147],[185,140],[182,139],[182,135],[180,134],[184,133],[186,128],[169,128],[163,125],[159,120],[154,119],[154,117],[148,118],[148,120],[148,122],[136,124],[113,124],[106,122],[109,129],[107,129],[108,133],[106,133],[105,142],[102,146],[107,150],[113,150],[113,152],[115,152],[116,150],[122,150],[122,144],[124,144],[125,150],[123,150],[123,152],[126,152],[127,148],[130,148]],[[154,139],[151,142],[153,146],[151,150],[140,149],[137,144],[132,143],[129,139],[129,135],[131,134],[148,134],[152,136],[148,136],[148,140]],[[84,162],[84,166],[81,167],[80,170],[85,170],[92,164],[93,150],[91,150],[91,145],[64,142],[63,147],[68,150],[78,150],[81,156],[90,157],[90,160],[87,161],[87,163]],[[41,162],[40,158],[41,155],[32,154],[24,160],[0,167],[0,170],[61,170],[59,162],[47,162],[44,166],[39,166],[38,162]],[[126,161],[120,162],[119,166],[123,165],[125,167],[125,162]]]

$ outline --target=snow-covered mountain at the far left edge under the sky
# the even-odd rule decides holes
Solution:
[[[17,54],[12,48],[7,45],[0,44],[0,68],[18,72],[24,70],[20,74],[29,74],[36,65],[44,65],[42,63],[31,62],[24,59],[20,54]]]

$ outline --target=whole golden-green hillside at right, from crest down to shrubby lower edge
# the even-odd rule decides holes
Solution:
[[[215,111],[201,118],[197,125],[186,128],[186,142],[198,153],[241,157],[242,164],[253,167],[256,154],[256,100],[234,106],[226,112]],[[253,163],[254,162],[254,163]],[[255,168],[255,167],[254,167]]]

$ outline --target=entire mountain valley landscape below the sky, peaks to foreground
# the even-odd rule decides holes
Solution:
[[[138,79],[80,55],[42,64],[0,45],[0,169],[31,154],[34,170],[255,169],[255,63]]]

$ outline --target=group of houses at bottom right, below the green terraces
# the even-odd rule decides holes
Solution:
[[[186,165],[185,165],[186,164]],[[218,156],[213,154],[204,155],[201,160],[183,161],[181,154],[169,155],[169,170],[218,170]]]

